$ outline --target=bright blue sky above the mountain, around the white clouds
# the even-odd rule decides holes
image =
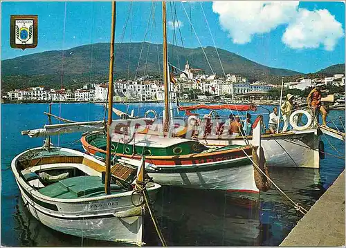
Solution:
[[[162,44],[161,2],[116,4],[116,42]],[[10,15],[38,15],[36,48],[10,48]],[[108,1],[2,1],[1,59],[109,42],[110,30]],[[345,3],[167,2],[167,41],[216,46],[264,66],[313,73],[345,63]]]

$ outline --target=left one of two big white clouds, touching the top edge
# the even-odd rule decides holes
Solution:
[[[270,32],[296,15],[298,1],[214,1],[221,28],[235,44],[246,44],[255,34]]]

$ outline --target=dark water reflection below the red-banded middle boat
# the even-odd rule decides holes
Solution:
[[[154,208],[172,246],[260,245],[259,204],[242,207],[226,191],[163,187]],[[149,233],[148,233],[149,234]],[[159,245],[154,233],[148,245]]]

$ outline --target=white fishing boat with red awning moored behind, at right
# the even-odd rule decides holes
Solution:
[[[197,110],[228,110],[228,111],[255,111],[251,105],[196,105],[181,106],[179,111],[186,111],[186,114],[197,117]],[[234,112],[233,112],[234,113]],[[188,124],[187,124],[188,126]],[[203,126],[203,125],[202,125]],[[226,128],[225,128],[226,129]],[[188,131],[188,130],[186,130]],[[203,133],[203,130],[200,131]],[[184,135],[183,135],[184,137]],[[186,137],[186,136],[185,136]],[[222,147],[225,145],[244,145],[246,139],[251,140],[252,136],[229,137],[229,135],[216,135],[215,131],[205,139],[200,138],[202,144],[208,147]],[[304,130],[292,130],[286,133],[265,133],[261,135],[262,147],[268,166],[284,167],[306,167],[319,168],[320,152],[323,152],[323,144],[317,128],[307,127]]]

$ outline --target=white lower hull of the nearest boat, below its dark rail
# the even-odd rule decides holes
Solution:
[[[142,216],[120,219],[113,216],[113,212],[116,211],[116,209],[108,209],[105,211],[104,215],[98,218],[96,216],[83,217],[82,211],[80,213],[72,213],[64,218],[64,216],[54,211],[48,212],[48,209],[33,204],[23,191],[21,191],[21,196],[30,213],[43,225],[55,231],[82,238],[143,245],[141,241],[143,236]],[[78,204],[78,206],[72,205],[71,207],[82,207],[87,209],[90,204],[98,203]],[[57,207],[60,208],[60,204],[57,204]]]

